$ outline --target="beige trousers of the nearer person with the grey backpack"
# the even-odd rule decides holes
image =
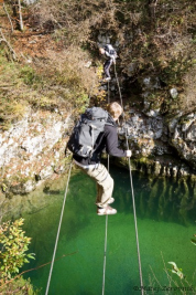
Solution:
[[[96,180],[97,182],[97,199],[96,204],[100,208],[107,207],[109,199],[112,197],[113,179],[102,164],[95,167],[84,168],[78,166],[85,173]]]

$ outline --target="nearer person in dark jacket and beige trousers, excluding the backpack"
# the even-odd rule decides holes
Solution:
[[[105,130],[100,134],[100,137],[98,137],[97,147],[90,159],[73,155],[74,161],[78,168],[97,182],[96,206],[98,215],[117,213],[117,210],[109,206],[115,201],[112,198],[113,179],[107,168],[100,162],[104,149],[106,148],[106,151],[115,157],[131,157],[132,155],[131,150],[122,150],[118,147],[116,122],[122,114],[122,107],[117,102],[113,102],[108,105],[107,110],[108,120],[105,125]]]

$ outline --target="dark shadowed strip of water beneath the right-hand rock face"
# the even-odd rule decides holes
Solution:
[[[123,211],[132,212],[131,187],[128,172],[113,168],[116,191]],[[146,178],[133,171],[133,190],[137,215],[141,219],[153,219],[163,222],[176,222],[183,225],[195,224],[196,187],[184,179]],[[194,193],[195,192],[195,193]]]

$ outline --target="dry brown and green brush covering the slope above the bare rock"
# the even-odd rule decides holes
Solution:
[[[9,128],[28,106],[80,110],[88,105],[88,96],[99,94],[94,66],[100,64],[100,34],[109,35],[118,46],[117,70],[127,78],[124,86],[132,89],[132,95],[138,88],[140,96],[138,81],[151,75],[159,77],[162,88],[149,99],[161,105],[163,114],[194,109],[193,0],[25,3],[22,1],[22,10],[15,1],[4,0],[0,4],[1,127]],[[91,67],[87,65],[89,60]],[[171,87],[179,94],[176,99],[170,96]]]

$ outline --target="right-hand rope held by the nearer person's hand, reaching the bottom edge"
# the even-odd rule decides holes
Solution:
[[[122,95],[120,91],[120,85],[119,85],[119,80],[117,76],[117,71],[116,71],[116,64],[115,64],[115,75],[119,88],[119,94],[120,94],[120,101],[121,101],[121,107],[123,109],[122,105]],[[123,120],[124,120],[124,114],[122,114]],[[128,129],[126,129],[126,144],[127,144],[127,149],[129,149],[129,143],[128,143]],[[134,229],[135,229],[135,238],[137,238],[137,251],[138,251],[138,263],[139,263],[139,271],[140,271],[140,285],[141,285],[141,294],[143,295],[143,280],[142,280],[142,267],[141,267],[141,259],[140,259],[140,246],[139,246],[139,235],[138,235],[138,224],[137,224],[137,210],[135,210],[135,201],[134,201],[134,190],[133,190],[133,181],[132,181],[132,172],[131,172],[131,160],[130,157],[129,159],[129,171],[130,171],[130,183],[131,183],[131,193],[132,193],[132,202],[133,202],[133,215],[134,215]]]

